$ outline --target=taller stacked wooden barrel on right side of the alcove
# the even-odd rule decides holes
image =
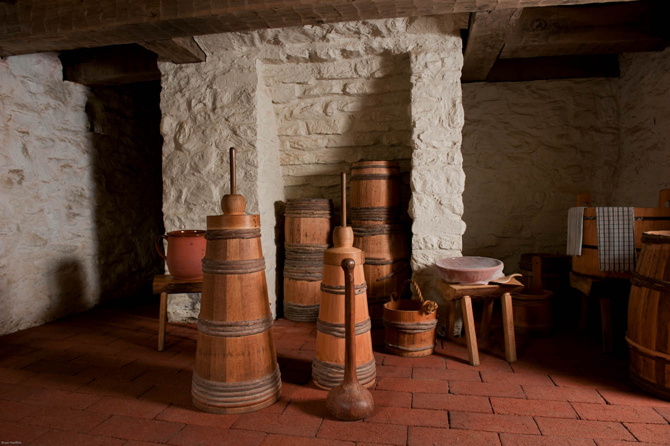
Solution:
[[[409,231],[401,223],[397,161],[358,161],[351,166],[350,218],[354,246],[364,252],[373,328],[383,327],[383,305],[411,277]]]

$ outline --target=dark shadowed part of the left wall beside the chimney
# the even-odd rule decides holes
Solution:
[[[164,271],[153,247],[163,226],[160,82],[95,86],[92,135],[100,301],[150,297]]]

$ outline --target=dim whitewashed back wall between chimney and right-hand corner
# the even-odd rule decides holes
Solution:
[[[523,252],[565,252],[580,192],[610,205],[620,151],[618,79],[463,85],[463,254],[518,271]],[[659,167],[661,169],[661,167]]]

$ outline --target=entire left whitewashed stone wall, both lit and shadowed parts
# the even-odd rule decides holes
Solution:
[[[63,82],[54,53],[0,60],[0,334],[151,295],[158,88]]]

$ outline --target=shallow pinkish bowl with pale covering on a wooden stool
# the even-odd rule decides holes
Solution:
[[[447,257],[435,262],[442,279],[449,283],[482,285],[502,276],[502,262],[490,257]]]

